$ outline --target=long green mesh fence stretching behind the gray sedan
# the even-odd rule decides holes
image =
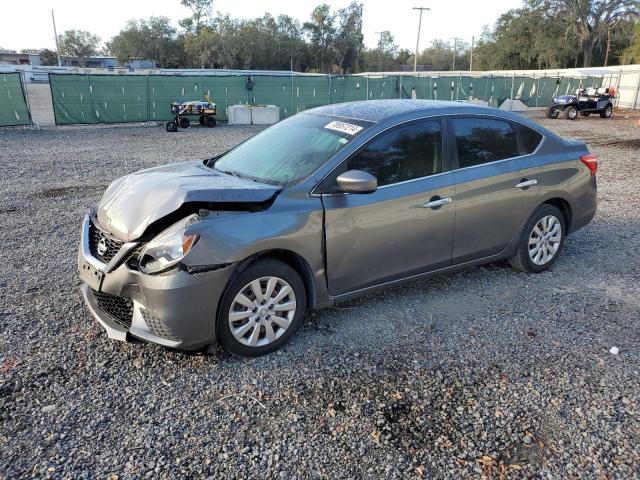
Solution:
[[[277,105],[282,118],[329,103],[388,98],[475,99],[493,107],[514,99],[538,107],[555,95],[598,87],[603,77],[50,74],[49,82],[56,124],[67,125],[166,121],[171,102],[205,95],[217,104],[218,120],[227,120],[227,106],[247,103]]]

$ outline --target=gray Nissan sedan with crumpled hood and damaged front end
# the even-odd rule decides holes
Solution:
[[[596,211],[597,160],[491,108],[319,107],[227,153],[113,182],[86,215],[86,303],[107,331],[261,355],[305,312],[508,259],[547,270]]]

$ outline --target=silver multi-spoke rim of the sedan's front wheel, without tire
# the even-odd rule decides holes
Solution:
[[[249,347],[268,345],[282,336],[296,314],[293,288],[279,277],[261,277],[245,285],[229,308],[234,338]]]

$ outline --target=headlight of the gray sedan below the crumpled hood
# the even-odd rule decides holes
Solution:
[[[195,216],[170,226],[151,240],[140,254],[140,267],[145,273],[159,273],[175,266],[189,253],[199,235],[187,235],[185,230]]]

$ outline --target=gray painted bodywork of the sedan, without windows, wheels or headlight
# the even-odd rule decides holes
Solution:
[[[143,244],[141,238],[159,233],[153,231],[154,225],[186,204],[205,203],[210,211],[187,228],[187,233],[201,238],[183,259],[185,268],[174,272],[145,275],[125,263],[101,265],[86,248],[80,248],[81,269],[89,262],[105,272],[103,291],[134,300],[133,324],[127,331],[100,311],[84,287],[90,309],[110,336],[134,336],[176,348],[214,342],[217,309],[226,285],[260,255],[295,255],[314,308],[383,286],[506,258],[513,254],[533,210],[547,200],[562,199],[570,206],[570,231],[588,223],[595,213],[595,177],[579,160],[587,153],[585,145],[563,140],[517,115],[416,100],[353,102],[302,113],[314,114],[372,125],[296,185],[264,185],[215,172],[201,162],[187,162],[138,172],[109,187],[98,205],[97,222],[128,242],[127,249],[135,250]],[[380,133],[430,117],[441,117],[447,125],[446,119],[453,115],[520,122],[542,133],[544,140],[531,155],[466,169],[455,168],[455,150],[447,144],[447,171],[442,174],[383,186],[369,194],[321,193],[323,180],[335,176],[334,170],[339,172],[350,155]],[[515,187],[526,179],[538,183]],[[425,206],[434,198],[447,197],[451,203]],[[251,208],[270,200],[263,209]],[[229,204],[237,208],[230,209]],[[87,235],[83,231],[83,245]],[[187,267],[204,273],[190,274]],[[143,309],[152,311],[179,340],[154,335],[141,315]]]

